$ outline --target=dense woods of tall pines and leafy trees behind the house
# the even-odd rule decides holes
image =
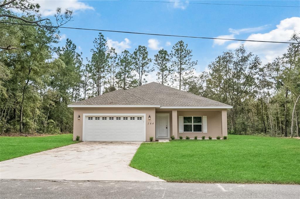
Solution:
[[[58,26],[71,18],[71,11],[58,12]],[[1,22],[52,25],[31,13],[22,19],[8,15],[13,13],[2,9]],[[197,61],[184,41],[151,58],[145,46],[117,54],[99,33],[91,58],[83,58],[70,39],[55,48],[58,34],[57,28],[0,24],[0,134],[72,132],[68,104],[143,85],[155,73],[161,84],[232,105],[229,133],[299,137],[300,44],[290,44],[285,54],[264,65],[242,45],[223,52],[208,65],[209,72],[195,76]],[[299,34],[291,40],[299,43]]]

